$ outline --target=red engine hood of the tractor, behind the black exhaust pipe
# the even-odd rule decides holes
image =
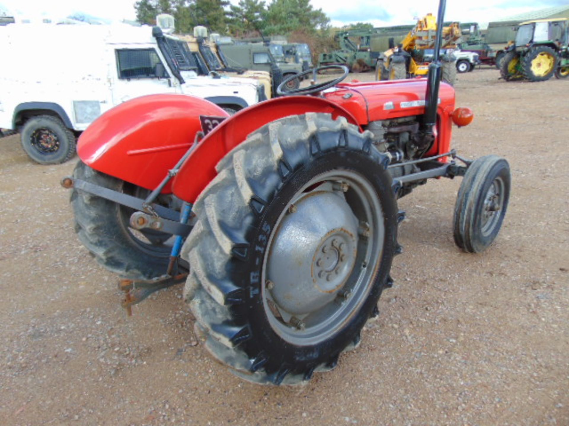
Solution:
[[[360,126],[376,120],[389,120],[424,114],[427,79],[340,83],[326,90],[324,97],[353,114]],[[439,115],[455,108],[455,90],[441,82]]]

